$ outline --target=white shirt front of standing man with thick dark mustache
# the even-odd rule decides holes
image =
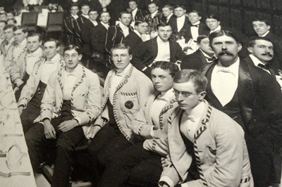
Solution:
[[[232,100],[238,87],[239,63],[239,58],[229,67],[224,67],[219,62],[212,72],[212,92],[223,106]]]

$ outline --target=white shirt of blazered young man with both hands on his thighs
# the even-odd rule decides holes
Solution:
[[[63,83],[63,100],[71,101],[71,93],[73,92],[73,86],[75,85],[75,80],[78,76],[78,72],[76,72],[75,70],[73,72],[65,72],[65,81]]]

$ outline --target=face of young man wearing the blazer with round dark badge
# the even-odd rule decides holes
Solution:
[[[116,70],[123,72],[128,67],[132,55],[129,55],[128,49],[114,49],[111,54],[111,60],[113,60]]]

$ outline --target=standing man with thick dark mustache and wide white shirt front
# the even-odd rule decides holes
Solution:
[[[243,127],[255,186],[280,183],[281,174],[276,172],[281,171],[281,159],[276,160],[282,135],[280,87],[269,73],[238,57],[242,46],[232,32],[212,32],[209,42],[218,60],[204,68],[207,101]]]

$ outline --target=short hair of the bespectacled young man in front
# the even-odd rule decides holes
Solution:
[[[185,83],[190,81],[195,84],[197,93],[206,91],[207,77],[204,77],[204,75],[197,70],[180,70],[173,78],[173,82],[175,83]]]

